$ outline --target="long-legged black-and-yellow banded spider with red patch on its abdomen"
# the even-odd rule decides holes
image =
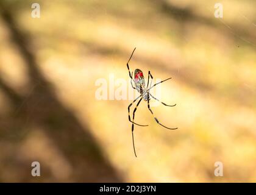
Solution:
[[[132,55],[133,55],[133,52],[135,51],[136,48],[133,49],[132,51]],[[132,59],[132,55],[130,55],[130,59]],[[143,99],[144,101],[147,101],[148,102],[148,109],[149,111],[151,112],[151,114],[154,116],[154,113],[152,112],[151,108],[150,108],[150,105],[149,105],[149,100],[151,98],[155,99],[156,101],[158,102],[161,102],[159,99],[155,98],[154,96],[152,96],[152,94],[149,92],[153,87],[155,87],[155,85],[158,85],[162,82],[165,82],[166,80],[169,80],[171,78],[168,78],[168,79],[165,79],[165,80],[162,80],[161,82],[158,82],[158,83],[155,83],[152,87],[151,87],[151,84],[152,84],[152,79],[153,79],[153,76],[152,74],[148,73],[148,82],[147,82],[147,87],[145,87],[145,79],[144,79],[144,76],[143,76],[143,73],[140,69],[135,69],[134,71],[134,79],[132,77],[132,73],[130,73],[130,68],[129,68],[129,62],[130,62],[130,59],[128,60],[127,62],[127,68],[128,68],[128,71],[129,71],[129,77],[130,77],[130,83],[132,84],[132,82],[135,84],[135,87],[133,86],[132,84],[132,88],[137,90],[139,93],[140,93],[140,96],[138,96],[137,98],[135,98],[133,100],[132,103],[130,103],[130,105],[128,106],[128,114],[129,114],[129,121],[132,122],[132,143],[133,143],[133,151],[134,151],[134,154],[135,154],[135,157],[137,157],[136,155],[136,151],[135,151],[135,145],[134,145],[134,138],[133,138],[133,130],[134,130],[134,124],[136,124],[137,126],[148,126],[148,125],[141,125],[141,124],[138,124],[136,122],[134,122],[134,117],[135,117],[135,112],[137,110],[137,107],[138,105],[140,104],[141,100]],[[151,83],[149,85],[149,76],[151,77]],[[134,108],[133,110],[133,113],[132,113],[132,121],[130,120],[130,107],[132,106],[133,103],[135,103],[138,99],[140,98],[140,100],[138,101],[136,107]],[[163,105],[165,106],[169,106],[169,107],[174,107],[176,104],[174,105],[167,105],[165,104],[164,102],[161,102]],[[161,124],[158,119],[154,116],[154,119],[155,121],[160,124],[160,126],[163,126],[165,127],[166,129],[171,129],[171,130],[176,130],[178,128],[169,128],[169,127],[166,127],[164,126],[163,124]]]

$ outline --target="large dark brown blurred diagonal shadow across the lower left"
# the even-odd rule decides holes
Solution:
[[[28,69],[30,84],[34,86],[31,93],[22,96],[15,92],[0,78],[0,89],[12,102],[13,110],[10,116],[2,120],[0,116],[0,142],[12,143],[10,159],[6,166],[2,163],[0,169],[15,171],[18,166],[17,177],[20,182],[35,181],[30,174],[31,162],[19,161],[17,150],[19,143],[26,139],[29,131],[26,127],[35,126],[44,130],[44,133],[51,138],[54,146],[62,152],[65,159],[72,166],[73,172],[70,180],[76,182],[121,182],[115,168],[102,154],[102,149],[90,133],[90,129],[80,124],[76,116],[60,102],[55,94],[54,87],[44,77],[38,68],[35,54],[32,52],[29,43],[29,36],[26,35],[16,24],[15,18],[8,9],[4,9],[1,3],[0,15],[10,32],[10,37],[19,49]],[[2,145],[1,145],[2,146]],[[28,153],[30,151],[27,151]],[[40,181],[54,180],[49,170],[41,173]],[[61,167],[59,169],[62,169]],[[25,170],[25,171],[24,171]],[[5,181],[0,177],[0,180]]]

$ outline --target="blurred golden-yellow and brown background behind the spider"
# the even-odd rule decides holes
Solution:
[[[256,2],[218,2],[223,18],[212,0],[39,0],[32,18],[34,1],[1,1],[0,182],[256,182]],[[132,90],[135,46],[131,71],[172,77],[176,107],[152,110],[179,127],[141,102],[137,158],[132,100],[95,98],[110,74]]]

